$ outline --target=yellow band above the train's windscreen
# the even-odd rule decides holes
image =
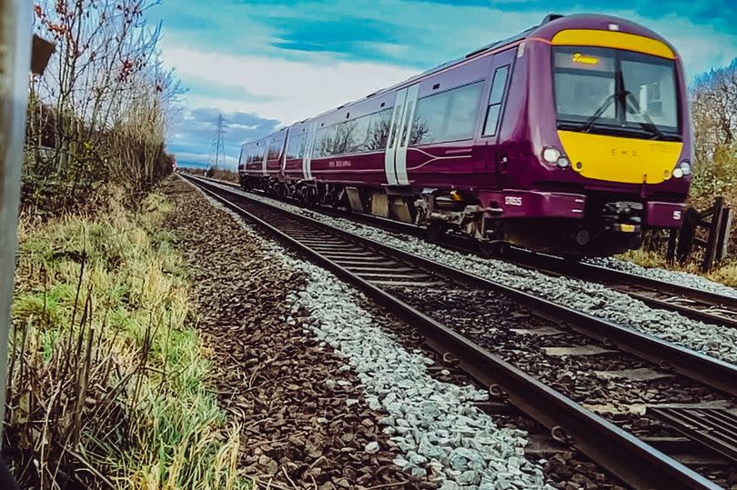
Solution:
[[[673,50],[650,37],[621,33],[617,31],[599,31],[596,29],[566,29],[552,38],[553,45],[567,46],[597,46],[626,49],[645,53],[646,55],[660,56],[661,58],[675,59]]]

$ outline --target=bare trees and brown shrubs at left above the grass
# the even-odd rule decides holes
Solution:
[[[56,52],[30,81],[22,201],[58,214],[120,185],[131,203],[171,172],[167,120],[181,94],[161,60],[157,0],[41,0],[35,34]]]

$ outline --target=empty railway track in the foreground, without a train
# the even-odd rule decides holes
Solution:
[[[581,450],[628,485],[718,488],[704,475],[723,478],[721,468],[737,461],[737,366],[288,213],[222,185],[187,178],[284,245],[403,317],[449,365],[490,387],[492,399],[515,405],[548,427],[555,439]],[[432,294],[424,295],[427,292]],[[462,310],[469,308],[454,303],[459,297],[480,298],[480,308],[508,305],[511,310],[500,315],[507,315],[520,328],[513,329],[513,335],[506,330],[491,335],[491,328],[485,330],[474,318],[486,310],[470,308],[468,315]],[[447,305],[455,305],[458,311],[449,311]],[[552,368],[535,367],[546,363]],[[584,374],[599,366],[602,373],[628,378],[635,391],[652,386],[651,379],[666,379],[666,389],[655,390],[665,403],[644,404],[643,415],[626,410],[624,414],[598,410],[597,415],[591,404],[591,409],[584,406],[589,398],[581,388],[585,391],[586,386],[558,376],[560,369],[556,369],[561,366]],[[596,389],[606,385],[601,381]],[[671,386],[685,394],[675,397],[680,404],[669,398]],[[628,397],[636,396],[600,395],[620,408],[629,404]],[[682,403],[694,399],[710,403]],[[728,478],[737,477],[726,471]]]

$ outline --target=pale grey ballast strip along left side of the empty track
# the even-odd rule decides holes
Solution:
[[[306,289],[288,295],[292,310],[296,312],[305,308],[308,311],[311,320],[303,326],[322,339],[324,344],[331,345],[337,353],[345,355],[348,369],[355,369],[358,365],[365,367],[363,372],[358,373],[358,378],[366,391],[369,407],[375,410],[383,408],[389,412],[391,418],[385,417],[385,422],[396,424],[403,419],[409,424],[386,425],[384,431],[394,429],[399,434],[399,429],[403,429],[404,441],[414,446],[411,450],[429,460],[425,467],[419,467],[409,461],[408,451],[395,462],[401,464],[409,474],[419,477],[431,470],[439,480],[440,488],[470,490],[498,487],[500,478],[492,468],[506,468],[506,458],[518,452],[523,454],[527,440],[524,432],[497,427],[489,415],[471,405],[475,401],[486,400],[488,394],[473,386],[451,385],[432,378],[427,371],[432,361],[419,350],[405,350],[392,335],[375,325],[378,321],[360,306],[361,299],[365,299],[363,295],[338,282],[327,271],[288,255],[280,246],[268,242],[250,227],[238,222],[276,260],[308,275]],[[393,401],[383,405],[382,400],[388,396]],[[425,405],[428,400],[435,404],[437,413]],[[483,430],[474,430],[469,420]],[[423,441],[427,441],[427,444]],[[369,449],[373,449],[373,445]],[[460,453],[459,449],[462,450]],[[464,471],[476,472],[476,475],[464,475],[463,471],[450,467],[449,456],[454,451],[457,458],[462,457],[465,461]],[[480,469],[471,469],[471,462]],[[459,485],[456,483],[459,478],[461,481],[478,480],[480,486]],[[552,490],[550,485],[544,483],[540,465],[526,459],[514,485],[517,488]]]

